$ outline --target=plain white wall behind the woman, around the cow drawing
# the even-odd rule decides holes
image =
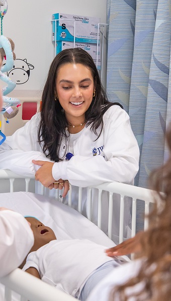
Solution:
[[[17,85],[12,96],[36,96],[42,91],[54,58],[52,14],[66,13],[100,17],[106,23],[107,0],[7,0],[8,12],[3,19],[3,35],[15,42],[16,58],[34,65],[28,82]],[[105,53],[106,59],[106,53]],[[106,77],[106,74],[104,74]],[[32,93],[33,95],[29,95]],[[41,94],[41,92],[39,92]],[[9,95],[10,96],[10,95]]]

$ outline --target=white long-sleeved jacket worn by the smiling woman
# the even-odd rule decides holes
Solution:
[[[35,169],[32,160],[48,160],[42,153],[41,146],[37,142],[37,130],[40,114],[36,114],[26,123],[25,127],[18,129],[12,136],[0,146],[0,168],[25,175],[34,176]],[[100,137],[90,130],[90,126],[84,127],[80,135],[74,141],[74,156],[69,161],[55,163],[52,169],[53,178],[69,180],[71,185],[87,187],[104,182],[134,183],[134,177],[138,172],[139,147],[132,132],[128,114],[120,106],[113,105],[103,116],[104,127]],[[97,130],[100,132],[100,129]],[[97,140],[96,140],[97,139]],[[65,145],[65,139],[60,146],[59,156],[69,152],[69,146]],[[37,191],[40,192],[40,183],[37,183]],[[50,191],[54,194],[54,190]],[[72,189],[72,201],[77,199],[77,189]],[[103,197],[104,202],[106,196]],[[82,210],[87,215],[87,191],[82,192]],[[65,200],[64,200],[65,202]],[[94,213],[93,222],[97,221],[97,192],[93,191]],[[108,207],[108,204],[104,205]],[[107,208],[106,208],[107,209]],[[107,222],[106,209],[103,209]],[[118,236],[119,200],[115,202],[114,210],[114,236]],[[124,237],[129,237],[128,226],[130,224],[130,202],[125,202]],[[106,225],[104,226],[106,227]],[[117,243],[117,241],[115,241]]]

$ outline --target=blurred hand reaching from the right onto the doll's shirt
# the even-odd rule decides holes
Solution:
[[[116,247],[106,250],[108,256],[122,256],[141,251],[140,239],[143,232],[139,232],[133,238],[127,239]]]

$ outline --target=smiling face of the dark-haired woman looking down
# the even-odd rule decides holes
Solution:
[[[71,124],[83,122],[89,109],[95,85],[91,70],[80,64],[66,63],[57,73],[56,94]]]

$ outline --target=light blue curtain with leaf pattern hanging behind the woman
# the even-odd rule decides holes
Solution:
[[[168,155],[171,0],[108,0],[107,11],[107,93],[129,114],[139,144],[135,185],[150,187],[148,175]]]

